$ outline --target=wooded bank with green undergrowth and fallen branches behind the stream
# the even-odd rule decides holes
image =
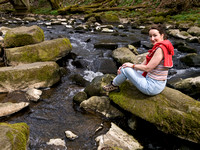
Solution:
[[[14,11],[12,0],[0,0],[1,12]],[[134,18],[139,24],[176,22],[200,26],[199,0],[30,0],[30,12],[46,15],[107,13]]]

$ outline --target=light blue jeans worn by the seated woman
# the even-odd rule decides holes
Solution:
[[[148,76],[144,77],[138,71],[133,68],[122,68],[121,73],[118,74],[114,80],[113,84],[119,86],[126,79],[130,80],[142,93],[146,95],[156,95],[162,92],[166,86],[165,81],[155,80]]]

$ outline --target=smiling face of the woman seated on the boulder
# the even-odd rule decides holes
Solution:
[[[164,34],[160,34],[156,29],[151,29],[149,31],[149,37],[153,45],[164,40]]]

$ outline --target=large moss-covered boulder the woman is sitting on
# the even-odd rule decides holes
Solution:
[[[200,143],[200,102],[166,87],[156,96],[142,94],[128,81],[110,99],[124,110],[152,124],[159,130]]]

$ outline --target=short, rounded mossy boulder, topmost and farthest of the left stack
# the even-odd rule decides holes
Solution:
[[[5,47],[9,48],[40,43],[42,41],[44,41],[44,32],[36,25],[12,28],[6,32],[4,38]]]

